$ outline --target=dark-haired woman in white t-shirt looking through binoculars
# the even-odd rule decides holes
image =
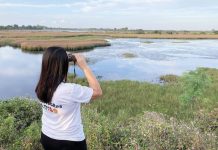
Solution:
[[[75,54],[89,87],[67,83],[69,60],[61,47],[49,47],[43,54],[36,95],[42,105],[41,143],[45,150],[86,150],[80,105],[102,95],[101,87],[85,58]]]

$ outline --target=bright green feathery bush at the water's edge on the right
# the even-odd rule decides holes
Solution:
[[[182,77],[183,94],[181,102],[183,104],[194,103],[202,100],[203,92],[211,84],[211,78],[201,69],[191,71]]]

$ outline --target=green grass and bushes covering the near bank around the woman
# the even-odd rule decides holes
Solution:
[[[82,106],[89,149],[216,150],[218,70],[199,68],[161,79],[163,84],[101,81],[103,97]],[[0,110],[0,149],[42,149],[35,100],[1,101]]]

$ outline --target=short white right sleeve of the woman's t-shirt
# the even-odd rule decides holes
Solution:
[[[73,84],[71,89],[72,100],[79,103],[88,103],[93,95],[93,89],[79,84]]]

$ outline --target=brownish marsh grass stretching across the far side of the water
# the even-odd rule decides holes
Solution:
[[[69,51],[109,46],[107,38],[146,39],[218,39],[218,34],[196,33],[144,33],[131,32],[45,32],[0,31],[0,46],[20,47],[24,51],[43,51],[49,46],[62,46]],[[149,41],[147,42],[149,43]]]

